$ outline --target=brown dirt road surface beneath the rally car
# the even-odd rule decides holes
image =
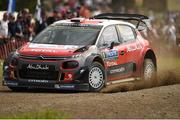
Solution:
[[[180,118],[180,84],[117,93],[11,92],[0,87],[0,115],[56,109],[72,118]]]

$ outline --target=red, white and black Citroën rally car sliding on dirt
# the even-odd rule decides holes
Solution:
[[[146,20],[144,15],[104,13],[55,22],[9,55],[3,84],[12,90],[100,91],[119,82],[153,83],[156,56],[141,35]]]

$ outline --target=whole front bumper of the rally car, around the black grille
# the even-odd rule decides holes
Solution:
[[[80,65],[76,69],[62,69],[62,63],[70,60],[62,61],[41,61],[41,60],[26,60],[19,59],[18,65],[15,67],[9,64],[5,65],[3,70],[3,85],[8,87],[25,87],[25,88],[40,88],[40,89],[55,89],[55,90],[78,90],[89,91],[89,84],[84,76],[87,76],[87,67]],[[82,62],[79,62],[82,63]],[[27,69],[24,65],[42,65],[53,66],[53,70],[38,70]],[[42,68],[41,68],[42,69]],[[33,72],[36,71],[36,74]],[[51,72],[48,72],[51,71]],[[55,78],[51,73],[57,73]],[[66,79],[66,74],[71,73],[72,78]],[[26,75],[26,76],[25,76]],[[27,76],[28,75],[28,76]],[[39,77],[40,76],[40,77]],[[44,78],[46,76],[46,78]],[[37,78],[38,77],[38,78]]]

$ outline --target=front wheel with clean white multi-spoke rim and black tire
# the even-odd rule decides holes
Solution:
[[[105,86],[104,67],[99,62],[93,62],[88,73],[89,91],[99,92]]]

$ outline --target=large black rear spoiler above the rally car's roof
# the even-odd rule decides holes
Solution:
[[[103,13],[91,17],[91,19],[109,19],[109,20],[134,20],[137,21],[136,28],[138,29],[141,23],[144,23],[147,28],[151,28],[149,18],[140,14],[121,14],[121,13]]]

